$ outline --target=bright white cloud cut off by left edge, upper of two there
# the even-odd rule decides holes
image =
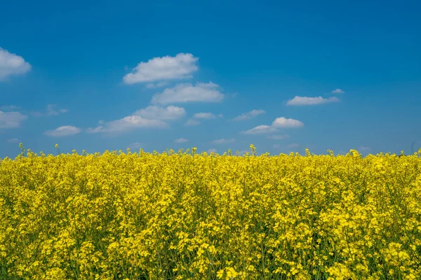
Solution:
[[[31,67],[31,64],[25,62],[23,57],[0,48],[0,80],[6,80],[9,76],[25,74],[31,70]]]

